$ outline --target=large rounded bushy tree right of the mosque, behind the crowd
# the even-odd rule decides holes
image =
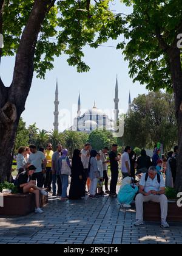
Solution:
[[[158,92],[135,98],[125,119],[124,142],[133,148],[153,148],[161,142],[164,152],[170,151],[177,143],[172,94]]]

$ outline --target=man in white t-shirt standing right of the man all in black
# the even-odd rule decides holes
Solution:
[[[130,158],[129,154],[132,151],[132,148],[130,146],[127,146],[124,149],[124,154],[122,155],[121,158],[121,172],[123,174],[123,179],[131,176],[131,170],[130,170]]]

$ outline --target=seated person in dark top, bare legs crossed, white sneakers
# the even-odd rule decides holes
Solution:
[[[35,204],[36,209],[35,213],[43,213],[41,208],[39,208],[39,193],[47,196],[47,191],[42,190],[42,188],[36,187],[36,181],[32,180],[32,176],[36,170],[34,165],[30,165],[27,168],[27,171],[19,174],[17,183],[18,183],[18,192],[19,193],[33,193],[35,194]]]

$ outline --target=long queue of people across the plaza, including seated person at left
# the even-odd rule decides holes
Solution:
[[[56,146],[53,152],[52,144],[48,143],[46,150],[37,149],[35,145],[21,147],[18,151],[16,184],[21,193],[35,193],[36,212],[41,213],[38,204],[38,194],[52,193],[52,196],[61,197],[61,201],[68,199],[83,199],[89,194],[90,199],[109,194],[117,197],[116,186],[118,184],[119,171],[122,177],[131,177],[148,172],[151,166],[155,166],[158,174],[166,170],[166,186],[173,187],[175,182],[175,160],[178,148],[169,152],[168,158],[160,157],[160,149],[155,149],[153,158],[147,156],[146,151],[141,151],[140,157],[136,157],[130,146],[126,146],[124,153],[118,154],[118,145],[113,144],[99,152],[92,149],[89,143],[83,149],[75,149],[72,159],[69,151],[63,149],[61,144]],[[108,186],[108,163],[110,165],[110,190]],[[164,165],[166,163],[166,167]],[[69,195],[69,176],[71,177]],[[27,181],[27,182],[25,182]],[[104,190],[105,186],[105,190]],[[42,189],[44,188],[44,189]]]

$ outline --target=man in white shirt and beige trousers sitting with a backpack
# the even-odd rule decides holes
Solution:
[[[165,183],[163,176],[157,174],[155,166],[149,168],[147,174],[143,174],[140,180],[140,194],[136,196],[136,222],[135,226],[143,224],[143,203],[159,202],[161,205],[161,226],[169,227],[166,222],[168,202],[165,196]]]

